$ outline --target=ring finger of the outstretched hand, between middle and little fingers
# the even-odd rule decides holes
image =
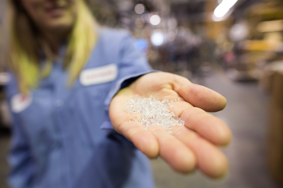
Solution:
[[[159,155],[176,171],[187,173],[196,167],[194,153],[160,126],[148,129],[158,140]]]

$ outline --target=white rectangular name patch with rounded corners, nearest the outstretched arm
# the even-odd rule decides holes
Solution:
[[[84,86],[95,85],[113,81],[117,78],[118,67],[116,64],[82,70],[80,82]]]

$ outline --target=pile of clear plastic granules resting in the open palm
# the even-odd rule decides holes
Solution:
[[[175,99],[179,101],[179,98]],[[129,121],[140,122],[145,129],[153,125],[160,125],[172,134],[170,129],[174,125],[185,125],[185,121],[181,120],[180,117],[175,118],[175,114],[169,109],[173,109],[175,101],[169,101],[168,99],[163,99],[159,101],[153,96],[149,98],[143,98],[135,96],[134,98],[126,101],[125,111],[130,113],[139,113],[141,115],[141,120],[137,117],[130,118]]]

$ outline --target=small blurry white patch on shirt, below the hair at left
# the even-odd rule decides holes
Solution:
[[[24,109],[31,105],[31,95],[23,95],[18,93],[12,96],[11,99],[11,110],[14,113],[22,112]]]

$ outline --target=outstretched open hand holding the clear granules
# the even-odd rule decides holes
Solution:
[[[129,121],[138,115],[121,109],[135,95],[169,101],[180,98],[171,110],[176,116],[181,115],[185,126],[173,126],[172,135],[158,125],[146,130],[141,123]],[[211,89],[182,76],[155,72],[120,90],[110,103],[109,114],[114,129],[149,158],[160,156],[179,172],[191,172],[198,167],[204,174],[218,178],[226,173],[228,162],[217,146],[227,145],[231,132],[222,120],[207,112],[217,112],[225,106],[226,99]]]

